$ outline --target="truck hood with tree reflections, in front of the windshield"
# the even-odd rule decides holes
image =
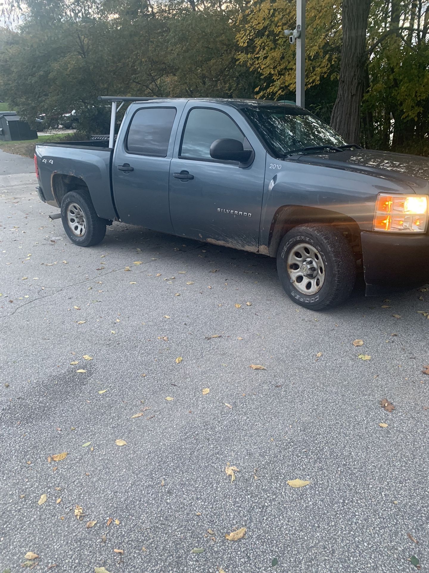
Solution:
[[[357,149],[342,153],[321,152],[301,155],[297,160],[300,163],[323,165],[383,179],[400,180],[410,185],[416,193],[428,193],[429,190],[429,158],[419,155]]]

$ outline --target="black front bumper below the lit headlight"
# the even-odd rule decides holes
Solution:
[[[429,236],[362,231],[367,295],[394,292],[429,282]]]

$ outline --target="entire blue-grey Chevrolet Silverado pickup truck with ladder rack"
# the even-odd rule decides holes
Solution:
[[[344,301],[358,272],[367,295],[429,281],[429,159],[348,145],[295,105],[100,99],[109,141],[34,156],[39,197],[76,245],[122,221],[277,257],[285,292],[314,310]]]

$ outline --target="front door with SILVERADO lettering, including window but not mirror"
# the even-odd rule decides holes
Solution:
[[[237,139],[255,159],[210,157],[217,139]],[[250,147],[249,147],[250,146]],[[217,245],[257,252],[266,152],[237,109],[189,101],[178,127],[170,163],[170,215],[174,233]]]

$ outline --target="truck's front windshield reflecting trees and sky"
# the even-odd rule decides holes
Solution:
[[[255,105],[241,109],[275,157],[313,146],[346,145],[318,117],[289,105]]]

